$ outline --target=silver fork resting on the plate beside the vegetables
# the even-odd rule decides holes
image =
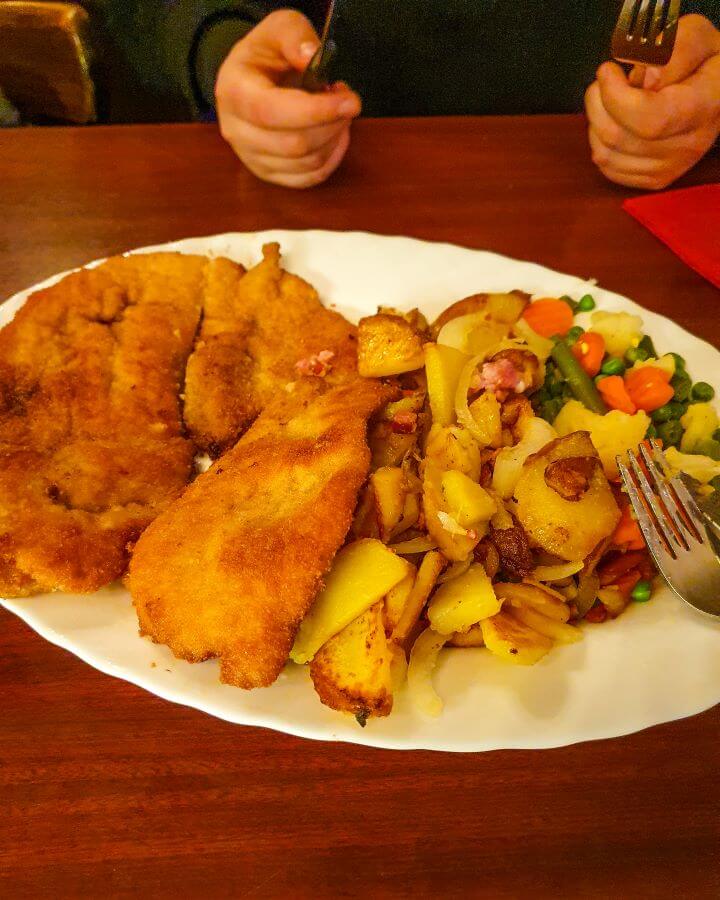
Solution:
[[[675,593],[690,606],[720,617],[720,560],[713,552],[703,515],[679,476],[672,476],[659,444],[639,448],[617,464],[638,524],[655,564]]]

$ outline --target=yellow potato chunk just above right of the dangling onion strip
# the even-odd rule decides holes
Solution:
[[[433,631],[451,635],[469,631],[472,625],[500,612],[492,583],[481,563],[473,563],[464,575],[448,581],[435,591],[428,605]]]

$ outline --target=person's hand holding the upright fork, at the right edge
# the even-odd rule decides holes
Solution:
[[[720,32],[683,16],[672,59],[631,87],[603,63],[585,94],[595,165],[610,181],[659,190],[692,168],[720,134]]]

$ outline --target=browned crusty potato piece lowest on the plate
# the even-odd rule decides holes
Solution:
[[[310,677],[325,706],[352,713],[364,725],[370,716],[389,715],[396,665],[383,605],[376,603],[323,645]]]

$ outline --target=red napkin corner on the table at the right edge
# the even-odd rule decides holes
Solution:
[[[720,184],[633,197],[623,209],[720,288]]]

